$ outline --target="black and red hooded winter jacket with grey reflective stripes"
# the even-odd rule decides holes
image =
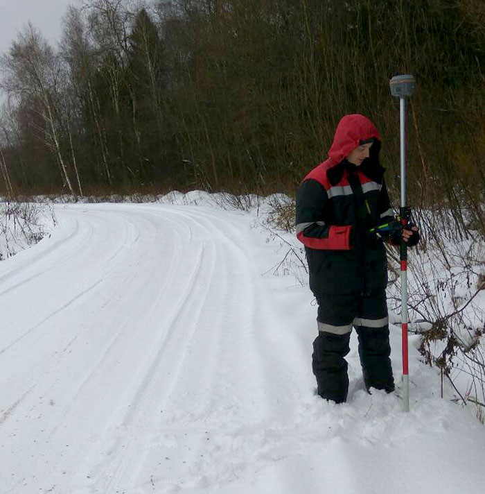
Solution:
[[[359,167],[345,159],[373,139]],[[303,179],[297,190],[297,237],[306,250],[310,289],[315,296],[364,294],[387,284],[387,258],[370,228],[393,219],[379,163],[380,135],[360,114],[342,118],[328,160]]]

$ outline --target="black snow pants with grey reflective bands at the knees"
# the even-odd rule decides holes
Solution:
[[[394,391],[389,318],[385,290],[362,296],[321,295],[318,303],[318,337],[313,342],[312,369],[322,398],[345,402],[349,391],[348,364],[352,327],[358,334],[364,384]]]

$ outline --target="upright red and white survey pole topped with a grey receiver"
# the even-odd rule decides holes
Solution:
[[[394,76],[389,86],[391,94],[399,98],[400,110],[400,221],[407,225],[409,207],[406,205],[406,99],[412,96],[416,81],[411,75]],[[409,411],[409,357],[407,351],[407,246],[400,241],[401,331],[403,339],[403,411]]]

